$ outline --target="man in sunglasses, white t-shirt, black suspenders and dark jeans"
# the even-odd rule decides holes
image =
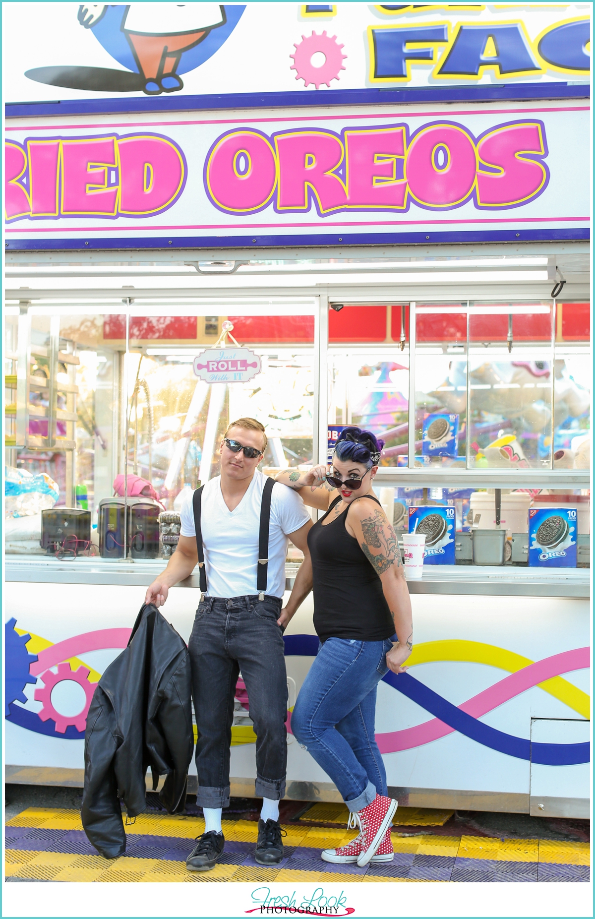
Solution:
[[[219,447],[221,474],[207,482],[200,529],[207,574],[188,642],[198,739],[196,803],[205,833],[186,859],[190,871],[213,868],[223,852],[221,810],[230,803],[230,740],[238,674],[246,684],[256,733],[256,786],[263,797],[254,857],[262,865],[283,858],[279,800],[285,794],[287,684],[283,629],[312,586],[308,531],[301,498],[276,484],[271,494],[266,593],[257,592],[262,495],[266,476],[257,470],[267,438],[253,418],[234,421]],[[160,607],[168,590],[198,561],[193,501],[181,511],[180,540],[167,568],[149,587],[147,603]],[[282,611],[288,538],[304,553],[291,596]]]

